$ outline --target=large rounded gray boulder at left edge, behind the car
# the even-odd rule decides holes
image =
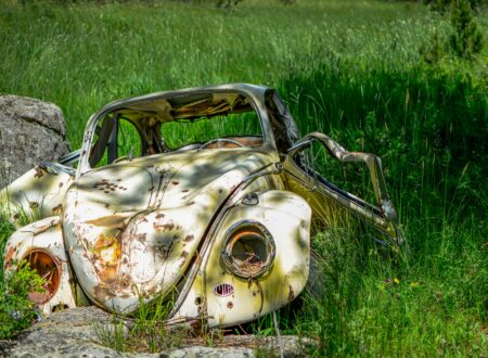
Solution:
[[[55,104],[0,95],[0,189],[37,164],[68,153],[68,145]]]

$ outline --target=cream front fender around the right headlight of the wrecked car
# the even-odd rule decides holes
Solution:
[[[213,235],[201,270],[174,318],[207,316],[209,327],[226,327],[287,305],[307,283],[310,218],[309,205],[292,192],[243,195]],[[262,271],[241,272],[229,263],[233,252],[229,245],[236,242],[239,230],[253,227],[270,236],[268,255]]]

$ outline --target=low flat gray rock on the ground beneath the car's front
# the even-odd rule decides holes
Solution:
[[[185,341],[180,348],[157,354],[119,353],[101,345],[100,329],[111,329],[114,317],[94,306],[78,307],[52,314],[23,332],[16,341],[0,341],[0,356],[4,357],[279,357],[277,337],[255,335],[226,335],[213,340],[213,347],[198,341]],[[130,322],[123,322],[130,325]],[[309,338],[282,336],[285,357],[303,357],[307,348],[317,345]]]

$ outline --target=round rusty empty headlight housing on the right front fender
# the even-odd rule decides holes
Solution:
[[[244,220],[227,231],[222,261],[236,277],[258,278],[271,268],[275,253],[277,247],[269,230],[258,221]]]

